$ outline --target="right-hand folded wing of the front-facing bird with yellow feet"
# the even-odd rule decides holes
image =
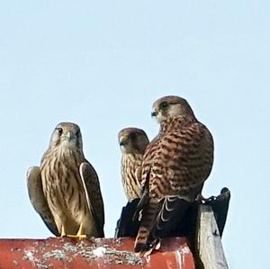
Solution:
[[[94,170],[94,167],[88,162],[84,162],[80,165],[80,175],[85,188],[88,208],[94,216],[99,237],[103,238],[104,209],[98,176]]]

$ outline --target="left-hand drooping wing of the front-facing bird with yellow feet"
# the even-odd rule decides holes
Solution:
[[[45,200],[41,176],[40,176],[40,167],[32,166],[28,169],[27,172],[27,187],[28,194],[30,197],[31,204],[35,211],[40,214],[41,219],[46,224],[47,228],[55,235],[59,236],[56,223],[52,217],[51,212],[49,211],[49,206]]]

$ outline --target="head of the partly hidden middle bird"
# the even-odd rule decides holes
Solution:
[[[123,153],[143,154],[148,146],[148,136],[144,130],[125,128],[118,133],[118,141]]]

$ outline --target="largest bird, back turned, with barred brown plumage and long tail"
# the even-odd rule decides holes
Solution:
[[[141,224],[134,246],[140,256],[156,247],[162,232],[174,225],[171,220],[175,214],[180,218],[186,202],[193,202],[202,192],[213,163],[211,132],[196,120],[183,98],[158,99],[152,116],[160,130],[146,148],[142,163],[142,194],[137,208]],[[185,202],[183,206],[179,200]]]

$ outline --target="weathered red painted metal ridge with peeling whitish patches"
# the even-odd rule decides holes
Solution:
[[[185,238],[166,238],[147,258],[132,252],[132,238],[0,239],[0,269],[195,269]]]

